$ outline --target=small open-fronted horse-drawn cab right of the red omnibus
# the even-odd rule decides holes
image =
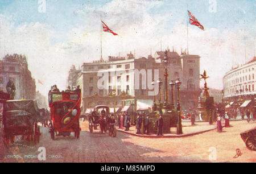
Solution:
[[[110,123],[109,107],[105,105],[95,106],[93,112],[88,116],[90,133],[97,130],[97,126],[103,126],[104,131],[109,131],[109,136],[116,136],[114,123]]]

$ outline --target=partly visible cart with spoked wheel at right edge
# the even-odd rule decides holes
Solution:
[[[256,127],[242,132],[240,135],[246,147],[249,148],[249,150],[256,151]]]

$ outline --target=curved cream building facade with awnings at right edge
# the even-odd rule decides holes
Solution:
[[[223,78],[226,110],[239,110],[242,115],[250,110],[255,117],[256,57],[241,67],[233,68]]]

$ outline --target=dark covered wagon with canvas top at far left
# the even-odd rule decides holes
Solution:
[[[40,114],[35,100],[9,100],[3,102],[2,136],[6,146],[14,143],[16,135],[28,141],[39,143]]]

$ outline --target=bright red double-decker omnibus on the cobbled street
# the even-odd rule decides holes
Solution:
[[[51,109],[51,122],[49,123],[51,138],[56,136],[69,136],[75,132],[80,136],[79,117],[81,113],[81,90],[69,92],[49,92],[49,107]]]

